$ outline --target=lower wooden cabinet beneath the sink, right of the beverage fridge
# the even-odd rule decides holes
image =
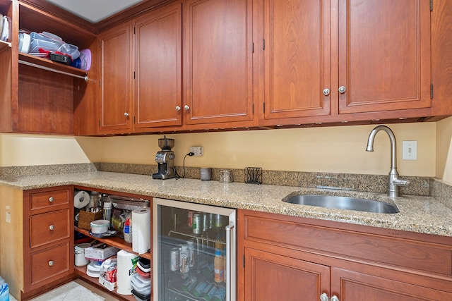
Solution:
[[[237,300],[452,300],[450,237],[246,210],[238,220]]]

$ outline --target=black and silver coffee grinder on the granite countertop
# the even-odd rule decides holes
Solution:
[[[155,154],[155,162],[158,164],[157,173],[153,173],[154,179],[169,179],[176,176],[174,170],[174,152],[172,148],[174,147],[174,139],[167,139],[167,136],[158,140],[158,147],[162,149],[160,152]]]

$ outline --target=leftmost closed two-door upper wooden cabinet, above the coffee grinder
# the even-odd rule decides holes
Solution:
[[[99,35],[100,133],[182,124],[182,4]]]

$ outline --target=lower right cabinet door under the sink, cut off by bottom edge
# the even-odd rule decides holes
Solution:
[[[337,268],[331,268],[331,296],[333,295],[341,301],[452,300],[452,294],[445,291]]]

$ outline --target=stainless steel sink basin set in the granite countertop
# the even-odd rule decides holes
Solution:
[[[395,205],[374,199],[357,199],[355,197],[338,197],[333,195],[294,195],[283,199],[283,202],[333,209],[348,209],[371,213],[398,213]]]

